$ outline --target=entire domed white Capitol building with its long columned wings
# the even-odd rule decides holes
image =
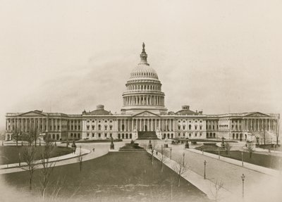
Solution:
[[[147,62],[145,44],[140,63],[130,72],[123,92],[121,113],[112,114],[98,105],[81,114],[28,111],[6,113],[6,140],[14,130],[37,130],[43,138],[66,139],[247,139],[276,141],[279,114],[262,112],[207,115],[182,106],[166,108],[165,94],[157,72]]]

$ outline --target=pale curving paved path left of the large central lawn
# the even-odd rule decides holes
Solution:
[[[114,142],[115,145],[115,150],[118,150],[121,146],[124,146],[125,143],[128,141],[118,141]],[[66,146],[66,144],[57,144],[58,146]],[[59,160],[56,162],[55,166],[59,165],[67,165],[71,163],[78,163],[78,155],[79,155],[79,148],[81,146],[82,148],[82,153],[83,153],[83,158],[82,160],[91,160],[93,158],[98,158],[100,156],[106,155],[106,153],[109,153],[109,147],[110,143],[109,142],[103,142],[103,143],[76,143],[77,149],[75,151],[75,154],[70,153],[64,156],[59,156],[55,158],[51,158],[52,160]],[[94,151],[93,151],[94,148]],[[51,162],[51,161],[50,161]],[[12,163],[10,165],[1,165],[0,168],[0,174],[6,174],[6,173],[11,173],[11,172],[23,172],[22,168],[11,168],[13,166],[18,166],[18,163]],[[2,168],[3,167],[3,168]],[[38,165],[38,168],[42,168],[42,165]]]

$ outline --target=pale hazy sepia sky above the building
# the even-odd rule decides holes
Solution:
[[[120,112],[142,42],[166,107],[282,113],[282,1],[0,1],[6,112]]]

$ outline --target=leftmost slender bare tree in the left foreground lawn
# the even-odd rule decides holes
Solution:
[[[30,174],[30,190],[32,189],[32,177],[37,169],[35,165],[35,155],[36,155],[36,148],[35,146],[30,146],[25,148],[23,151],[23,160],[27,163],[27,165],[21,167],[23,170],[26,170]]]

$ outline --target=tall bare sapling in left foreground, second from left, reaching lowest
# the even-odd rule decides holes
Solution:
[[[49,183],[49,179],[51,176],[51,173],[54,170],[55,164],[56,163],[49,163],[49,158],[51,157],[51,152],[54,149],[54,144],[47,141],[47,143],[44,146],[44,150],[42,151],[41,154],[41,164],[42,164],[42,182],[41,182],[41,186],[42,186],[42,198],[44,199],[44,197],[46,196],[46,189],[47,189],[47,185]]]

